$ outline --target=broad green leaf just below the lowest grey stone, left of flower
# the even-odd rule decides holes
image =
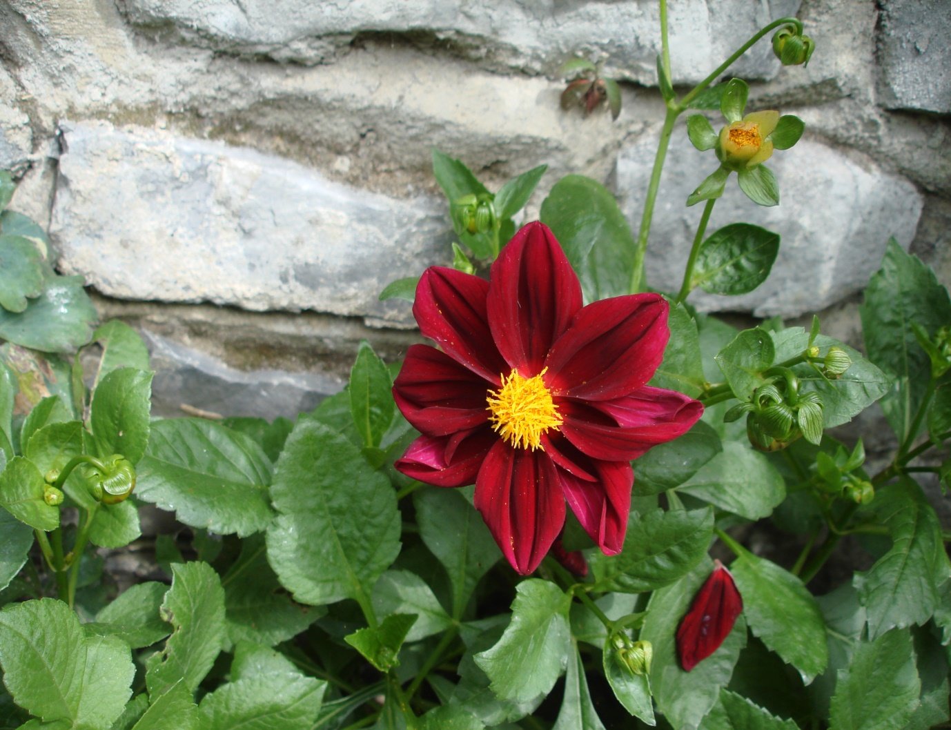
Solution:
[[[185,525],[244,537],[271,522],[271,462],[243,433],[198,418],[151,425],[136,496]]]

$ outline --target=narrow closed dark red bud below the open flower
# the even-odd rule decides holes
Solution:
[[[685,672],[720,648],[742,611],[733,576],[719,560],[713,561],[713,572],[677,629],[677,654]]]

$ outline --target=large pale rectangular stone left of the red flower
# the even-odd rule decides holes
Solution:
[[[64,125],[63,140],[59,265],[111,297],[407,324],[379,292],[449,246],[429,198],[360,192],[254,150],[145,129]]]

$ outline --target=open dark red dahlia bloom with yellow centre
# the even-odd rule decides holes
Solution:
[[[646,385],[664,355],[668,304],[637,294],[581,306],[552,231],[522,228],[490,281],[438,266],[413,314],[441,348],[413,345],[393,394],[422,433],[396,467],[438,487],[476,483],[476,509],[519,573],[565,522],[565,502],[606,554],[621,550],[631,459],[700,417]]]

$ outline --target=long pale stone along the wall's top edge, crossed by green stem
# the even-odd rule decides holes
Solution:
[[[301,64],[329,63],[367,35],[437,46],[492,69],[553,73],[576,53],[605,56],[611,73],[645,85],[656,83],[660,52],[657,4],[647,0],[124,0],[129,21],[146,33],[168,31],[202,48],[267,55]],[[792,16],[799,0],[689,0],[671,4],[674,82],[695,84],[773,18]],[[715,66],[715,64],[714,64]],[[756,48],[737,72],[775,75],[779,64],[766,46]]]

